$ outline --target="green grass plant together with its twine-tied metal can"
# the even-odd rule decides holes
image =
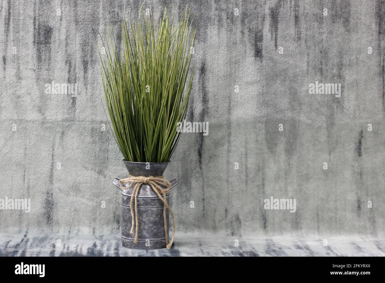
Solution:
[[[175,221],[168,198],[177,181],[164,179],[163,172],[179,141],[177,124],[186,117],[196,28],[187,7],[179,21],[166,8],[157,21],[141,13],[122,21],[121,42],[111,27],[99,34],[106,108],[129,175],[114,184],[122,190],[122,245],[170,248]]]

